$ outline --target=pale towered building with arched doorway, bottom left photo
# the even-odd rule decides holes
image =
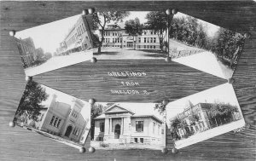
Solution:
[[[61,136],[64,139],[83,143],[87,135],[84,135],[86,124],[90,124],[90,118],[86,119],[80,114],[84,103],[79,100],[73,101],[71,105],[56,101],[53,95],[47,110],[41,111],[38,122],[34,128],[49,134]],[[28,120],[26,124],[30,124]]]

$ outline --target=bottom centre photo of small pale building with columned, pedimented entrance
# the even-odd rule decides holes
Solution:
[[[166,147],[165,113],[155,103],[96,102],[91,120],[90,145],[96,149]]]

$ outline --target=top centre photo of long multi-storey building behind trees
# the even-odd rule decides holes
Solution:
[[[164,60],[167,14],[163,11],[102,11],[93,14],[97,60]]]

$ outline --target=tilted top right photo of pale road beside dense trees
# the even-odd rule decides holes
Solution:
[[[178,12],[169,27],[169,56],[173,61],[219,78],[232,78],[245,37]]]

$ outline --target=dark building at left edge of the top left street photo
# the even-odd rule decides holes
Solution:
[[[32,63],[37,60],[37,52],[32,38],[19,39],[15,37],[15,41],[20,53],[22,65],[24,67],[32,66]]]

